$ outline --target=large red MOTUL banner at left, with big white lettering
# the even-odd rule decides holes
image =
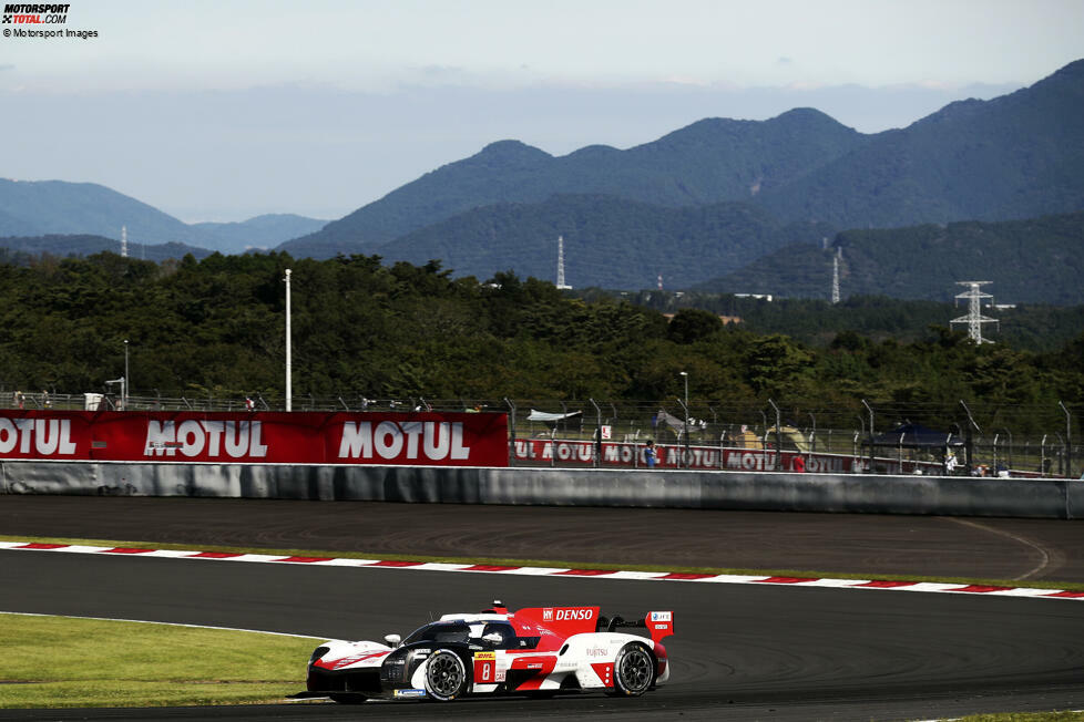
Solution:
[[[0,458],[508,466],[481,413],[0,411]]]

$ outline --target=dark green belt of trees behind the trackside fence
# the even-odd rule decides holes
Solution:
[[[572,298],[552,283],[507,274],[479,282],[452,279],[437,264],[388,267],[375,257],[315,261],[279,254],[161,265],[113,254],[0,264],[0,392],[100,391],[122,372],[126,339],[135,393],[258,392],[275,402],[283,386],[286,268],[293,269],[299,398],[653,404],[683,392],[685,371],[697,413],[708,413],[707,404],[742,406],[751,414],[748,423],[768,399],[789,410],[846,411],[851,420],[861,399],[912,404],[922,414],[912,421],[935,423],[945,420],[932,410],[967,400],[991,419],[1011,411],[1014,429],[1026,426],[1029,409],[1053,410],[1057,424],[1059,400],[1084,403],[1078,330],[1043,353],[1011,342],[975,347],[943,328],[899,340],[843,331],[818,348],[724,327],[705,310],[677,309],[667,323],[628,301]],[[802,311],[807,321],[816,312]],[[862,314],[861,305],[851,313]]]

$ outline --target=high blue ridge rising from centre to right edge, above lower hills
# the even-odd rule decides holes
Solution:
[[[906,128],[870,135],[800,109],[768,121],[707,118],[626,151],[589,146],[554,157],[502,141],[280,248],[388,255],[420,228],[442,223],[448,230],[457,219],[474,223],[467,214],[478,208],[542,204],[559,194],[659,207],[747,203],[781,223],[837,228],[1080,210],[1084,61],[1009,95],[952,103]]]

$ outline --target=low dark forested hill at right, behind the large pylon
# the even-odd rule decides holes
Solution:
[[[957,281],[992,281],[1004,303],[1084,303],[1084,213],[1001,223],[847,230],[832,248],[779,249],[696,290],[828,298],[832,256],[842,249],[842,296],[951,300]]]

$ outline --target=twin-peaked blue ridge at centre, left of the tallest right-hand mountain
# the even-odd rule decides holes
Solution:
[[[376,249],[418,228],[499,203],[590,194],[678,207],[740,202],[785,186],[861,145],[862,135],[819,111],[768,121],[706,118],[627,151],[592,145],[554,157],[519,141],[491,143],[427,173],[319,231],[283,245]]]

